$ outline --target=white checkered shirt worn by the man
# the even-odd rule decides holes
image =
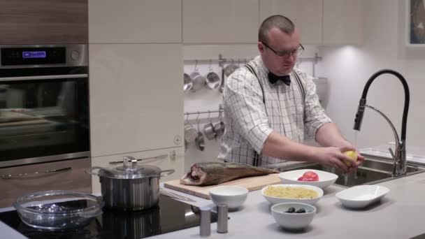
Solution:
[[[221,138],[218,159],[252,164],[254,150],[258,153],[264,147],[268,135],[277,133],[303,142],[305,136],[314,138],[317,129],[331,119],[320,106],[316,85],[312,78],[295,69],[305,91],[303,94],[290,73],[291,84],[268,81],[268,69],[260,56],[250,61],[258,80],[246,67],[238,68],[226,80],[223,106],[226,130]],[[264,88],[266,107],[263,102]],[[283,159],[261,156],[262,165],[282,162]]]

